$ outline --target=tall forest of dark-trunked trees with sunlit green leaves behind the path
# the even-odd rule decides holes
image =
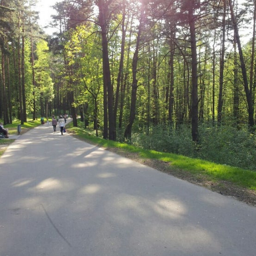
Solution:
[[[0,120],[256,170],[255,0],[1,0]]]

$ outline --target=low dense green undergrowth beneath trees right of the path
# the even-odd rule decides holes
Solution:
[[[149,132],[133,134],[133,145],[158,152],[201,158],[215,163],[256,170],[256,138],[246,127],[201,125],[200,142],[194,144],[190,129],[169,129],[158,125]]]

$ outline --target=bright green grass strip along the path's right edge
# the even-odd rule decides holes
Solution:
[[[79,127],[71,127],[71,124],[67,125],[67,129],[74,136],[98,146],[119,148],[122,151],[137,153],[140,157],[145,159],[160,160],[167,163],[168,168],[189,172],[194,177],[203,176],[208,182],[227,181],[240,187],[256,191],[256,172],[250,170],[188,158],[181,155],[143,150],[142,148],[137,148],[129,144],[104,140],[96,137],[94,132],[90,132],[90,130],[85,131]]]

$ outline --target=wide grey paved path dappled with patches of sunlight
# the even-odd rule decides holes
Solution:
[[[1,256],[256,255],[255,207],[52,126],[11,144],[0,177]]]

